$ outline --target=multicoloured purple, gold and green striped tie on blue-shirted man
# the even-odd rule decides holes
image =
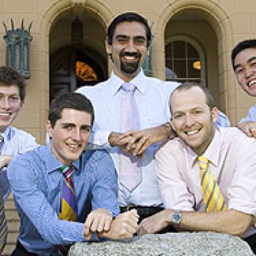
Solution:
[[[63,166],[61,168],[64,179],[61,191],[61,206],[59,213],[60,220],[77,220],[76,191],[74,188],[74,182],[71,179],[75,170],[76,169],[74,166]]]

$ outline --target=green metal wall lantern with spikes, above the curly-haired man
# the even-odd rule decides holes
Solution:
[[[22,19],[20,28],[14,29],[13,20],[11,19],[11,29],[8,30],[3,22],[5,35],[3,36],[6,43],[5,64],[13,67],[24,78],[30,77],[29,67],[29,49],[32,36],[30,29],[32,22],[29,23],[28,30],[24,29],[24,20]]]

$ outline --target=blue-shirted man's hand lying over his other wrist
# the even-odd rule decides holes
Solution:
[[[84,237],[86,240],[91,238],[92,232],[108,231],[112,220],[111,212],[106,209],[99,208],[90,212],[84,223]]]

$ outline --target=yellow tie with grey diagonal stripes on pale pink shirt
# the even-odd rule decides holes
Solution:
[[[204,156],[198,157],[200,178],[204,204],[207,212],[226,211],[227,205],[221,194],[218,183],[208,169],[209,160]]]

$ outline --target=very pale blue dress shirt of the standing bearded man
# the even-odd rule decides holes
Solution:
[[[77,92],[82,93],[92,101],[95,110],[95,124],[93,125],[93,147],[103,147],[113,158],[117,172],[119,172],[118,147],[110,147],[108,138],[110,132],[120,132],[121,105],[123,90],[120,87],[125,82],[114,72],[111,77],[95,86],[84,86]],[[147,77],[143,71],[131,80],[138,90],[134,97],[140,112],[141,129],[147,129],[164,124],[170,120],[170,93],[179,85],[176,82],[165,82],[153,77]],[[158,182],[156,179],[156,162],[154,159],[157,145],[149,147],[142,159],[142,182],[131,193],[118,184],[118,201],[120,206],[129,204],[157,206],[162,205]]]

